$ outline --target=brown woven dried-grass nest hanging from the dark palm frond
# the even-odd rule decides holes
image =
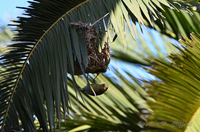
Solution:
[[[77,27],[78,30],[85,34],[87,43],[87,53],[88,53],[88,65],[85,66],[85,73],[104,73],[108,69],[108,64],[110,63],[110,46],[108,42],[104,43],[103,49],[98,50],[97,42],[101,43],[100,35],[93,29],[93,26],[87,23],[75,22],[71,23]],[[84,28],[84,30],[83,30]],[[85,32],[85,33],[83,33]],[[97,40],[98,39],[98,40]],[[101,46],[102,47],[102,46]],[[82,75],[82,71],[77,59],[74,59],[74,75]],[[84,68],[84,65],[82,64]],[[68,73],[70,73],[68,66]]]

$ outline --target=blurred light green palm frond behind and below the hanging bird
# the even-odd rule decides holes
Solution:
[[[149,109],[147,100],[153,100],[145,92],[132,75],[126,74],[126,79],[115,70],[115,77],[99,75],[97,83],[105,83],[109,89],[101,97],[91,97],[83,94],[84,102],[78,102],[73,92],[73,84],[69,87],[72,107],[70,113],[74,116],[61,122],[62,130],[89,131],[140,131],[147,120]],[[85,81],[79,78],[78,85],[85,86]],[[58,123],[59,124],[59,123]],[[59,126],[59,125],[57,125]],[[71,130],[71,131],[72,131]]]

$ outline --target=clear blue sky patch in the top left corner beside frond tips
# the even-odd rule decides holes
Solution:
[[[22,9],[17,9],[16,6],[27,7],[28,5],[27,0],[1,0],[0,23],[9,24],[10,20],[16,19],[23,12]]]

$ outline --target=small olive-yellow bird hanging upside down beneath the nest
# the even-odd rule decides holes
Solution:
[[[91,87],[90,87],[91,86]],[[84,88],[81,88],[81,91],[84,91],[85,93],[96,96],[96,95],[101,95],[103,94],[107,89],[108,85],[107,84],[90,84],[85,86]]]

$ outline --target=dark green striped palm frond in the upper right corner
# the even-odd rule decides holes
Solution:
[[[155,22],[155,29],[157,31],[177,40],[181,38],[181,34],[189,38],[190,33],[200,32],[199,12],[190,11],[190,13],[188,13],[185,10],[170,10],[166,7],[163,7],[163,9],[165,11],[163,11],[162,14],[165,18],[162,19],[162,21]]]

